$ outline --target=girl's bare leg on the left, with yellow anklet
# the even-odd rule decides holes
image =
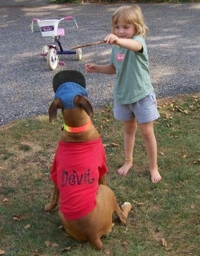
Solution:
[[[133,118],[129,121],[123,122],[124,124],[124,150],[125,150],[125,163],[117,173],[119,175],[126,175],[129,169],[133,166],[133,146],[135,144],[135,132],[137,130],[137,120]]]

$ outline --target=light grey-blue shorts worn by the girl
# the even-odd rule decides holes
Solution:
[[[114,116],[120,121],[136,118],[141,124],[152,122],[160,117],[157,110],[155,92],[132,104],[121,105],[114,101]]]

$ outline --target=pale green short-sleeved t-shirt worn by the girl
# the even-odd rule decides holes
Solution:
[[[115,66],[117,74],[113,96],[119,104],[138,102],[153,92],[145,39],[138,35],[133,39],[141,42],[143,53],[130,51],[118,45],[112,46],[110,63]]]

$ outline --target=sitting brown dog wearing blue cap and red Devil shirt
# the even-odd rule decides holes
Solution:
[[[59,202],[59,217],[67,234],[101,249],[101,237],[113,226],[113,213],[125,224],[131,204],[120,209],[113,191],[105,185],[105,151],[91,122],[93,108],[84,76],[74,70],[59,72],[53,78],[53,90],[49,120],[57,117],[59,108],[64,127],[51,169],[53,197],[45,211],[55,209]]]

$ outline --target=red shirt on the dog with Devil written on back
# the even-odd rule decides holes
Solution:
[[[81,143],[59,141],[51,179],[59,188],[60,211],[66,219],[79,219],[93,210],[99,177],[106,172],[101,137]]]

